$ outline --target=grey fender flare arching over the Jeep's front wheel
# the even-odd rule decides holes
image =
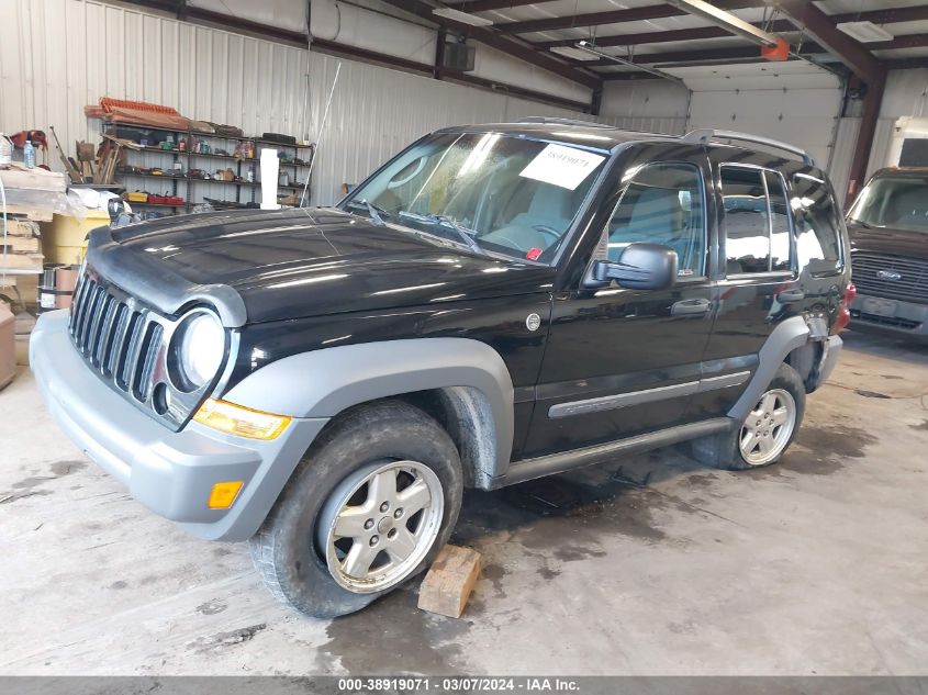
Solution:
[[[302,352],[260,368],[222,397],[269,413],[326,418],[374,399],[433,389],[458,402],[461,389],[479,394],[489,416],[478,421],[492,431],[473,433],[483,445],[477,458],[492,460],[477,461],[478,484],[504,473],[513,446],[513,384],[499,352],[479,340],[414,338]]]

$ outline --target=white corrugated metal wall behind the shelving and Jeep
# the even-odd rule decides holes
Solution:
[[[0,0],[0,131],[54,125],[65,149],[99,141],[83,116],[101,97],[177,108],[189,117],[318,137],[339,59],[91,0]],[[342,59],[313,200],[331,204],[421,135],[525,115],[589,115]],[[510,80],[518,83],[518,75]],[[306,90],[309,89],[309,94]],[[304,107],[305,104],[305,107]],[[54,153],[48,164],[62,170]],[[219,184],[198,184],[220,195]],[[198,195],[199,198],[199,195]]]

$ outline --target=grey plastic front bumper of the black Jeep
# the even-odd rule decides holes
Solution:
[[[171,431],[110,389],[70,341],[67,311],[43,314],[30,341],[42,397],[65,433],[132,496],[186,530],[246,540],[264,522],[325,418],[294,418],[277,439],[233,437],[190,422]],[[247,404],[242,404],[247,405]],[[210,509],[213,484],[245,484],[228,509]]]

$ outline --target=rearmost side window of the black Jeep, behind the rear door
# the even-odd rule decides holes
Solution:
[[[841,222],[828,186],[806,175],[793,177],[793,199],[790,201],[796,220],[796,256],[800,268],[819,261],[823,270],[839,270],[841,264]]]

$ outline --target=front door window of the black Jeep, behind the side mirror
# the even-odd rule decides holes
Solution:
[[[629,244],[663,244],[677,251],[679,276],[704,273],[705,210],[700,169],[689,164],[652,164],[639,169],[608,226],[608,258]]]

